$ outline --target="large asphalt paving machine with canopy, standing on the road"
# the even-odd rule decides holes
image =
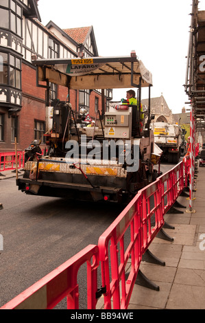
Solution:
[[[74,111],[69,100],[53,100],[51,128],[45,133],[47,151],[40,152],[40,142],[33,143],[33,150],[25,150],[24,174],[16,179],[19,190],[48,197],[128,203],[138,190],[156,180],[154,165],[160,153],[155,150],[150,126],[150,104],[143,111],[143,129],[138,109],[142,87],[148,88],[150,102],[152,74],[136,54],[90,60],[34,59],[33,64],[38,80],[69,89],[136,88],[138,105],[111,102],[109,111],[97,111],[95,126],[85,127],[84,111]]]

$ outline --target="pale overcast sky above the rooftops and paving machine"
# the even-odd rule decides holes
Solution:
[[[184,92],[192,0],[39,0],[43,25],[61,29],[93,25],[99,56],[130,56],[152,72],[151,97],[164,96],[173,113],[189,108]],[[205,10],[205,0],[199,4]],[[114,100],[125,98],[114,90]],[[142,98],[148,97],[143,89]]]

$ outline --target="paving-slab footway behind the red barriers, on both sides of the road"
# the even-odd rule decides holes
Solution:
[[[1,172],[0,180],[16,177],[16,172]],[[21,176],[23,172],[19,172]],[[142,261],[140,271],[154,287],[135,284],[128,309],[205,309],[205,168],[195,173],[193,207],[189,210],[189,192],[178,197],[184,208],[165,214],[171,228],[163,228],[173,241],[154,238],[149,252],[162,265]],[[1,202],[1,201],[0,201]],[[97,309],[103,309],[103,298]]]

